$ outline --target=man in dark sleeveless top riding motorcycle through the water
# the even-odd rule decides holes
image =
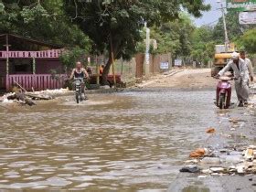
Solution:
[[[82,68],[82,64],[80,61],[76,62],[76,68],[72,69],[69,80],[73,80],[74,78],[89,79],[89,74],[86,71],[86,69]],[[85,88],[85,84],[84,84],[84,81],[82,80],[81,81],[81,91],[82,91],[83,99],[85,99],[84,88]]]

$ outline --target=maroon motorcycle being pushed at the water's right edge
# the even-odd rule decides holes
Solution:
[[[219,109],[229,109],[231,100],[231,83],[230,77],[219,77],[216,90],[216,105]]]

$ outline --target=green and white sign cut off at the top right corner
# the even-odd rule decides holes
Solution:
[[[256,0],[227,0],[227,8],[235,11],[256,10]]]

